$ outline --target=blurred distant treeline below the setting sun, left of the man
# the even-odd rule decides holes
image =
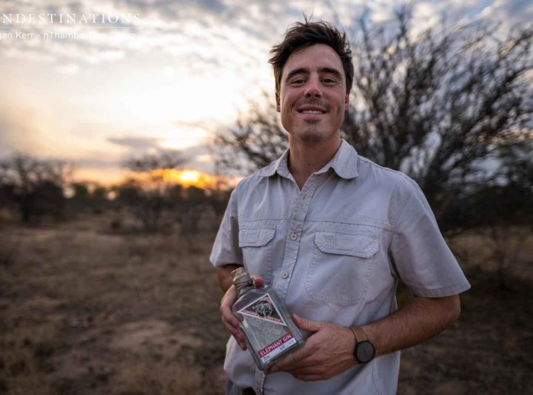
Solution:
[[[207,227],[216,227],[231,193],[227,185],[184,187],[150,176],[155,168],[144,169],[148,177],[142,180],[131,177],[103,186],[74,181],[75,170],[62,161],[17,153],[0,161],[0,209],[29,225],[122,210],[137,220],[141,231],[159,231],[161,225],[179,222],[182,232],[194,233],[206,227],[202,224],[206,218]],[[123,227],[117,218],[113,217],[110,227]]]

